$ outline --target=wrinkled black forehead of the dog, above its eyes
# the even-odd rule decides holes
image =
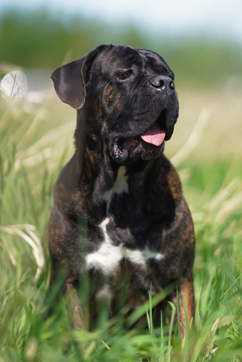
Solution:
[[[95,59],[95,67],[103,75],[111,75],[117,71],[123,72],[138,68],[145,72],[153,71],[158,74],[171,72],[160,55],[144,49],[134,49],[130,46],[118,45],[104,50]]]

